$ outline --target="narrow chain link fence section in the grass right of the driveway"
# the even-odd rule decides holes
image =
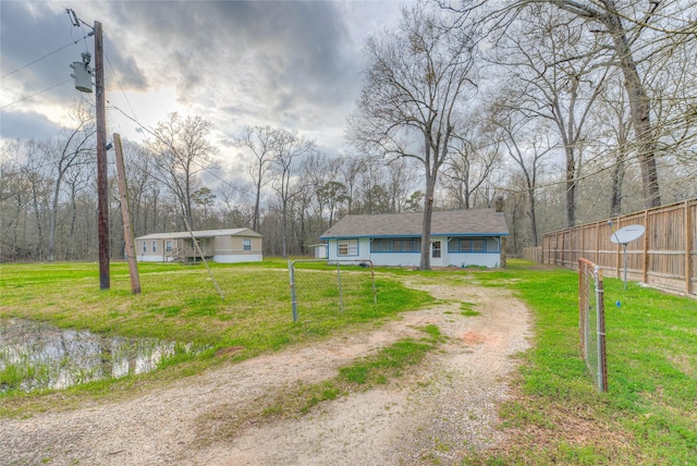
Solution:
[[[606,358],[606,306],[602,270],[590,260],[578,259],[578,330],[580,353],[598,390],[608,391]]]

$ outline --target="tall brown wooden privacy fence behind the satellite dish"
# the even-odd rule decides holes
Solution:
[[[632,224],[644,225],[646,233],[627,244],[628,280],[697,297],[697,198],[547,233],[542,263],[576,269],[585,257],[606,277],[622,278],[624,248],[610,236]]]

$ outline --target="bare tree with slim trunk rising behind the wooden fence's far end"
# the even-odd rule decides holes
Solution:
[[[589,40],[573,15],[543,4],[525,9],[517,20],[497,41],[497,62],[510,73],[511,86],[515,83],[521,114],[549,120],[557,128],[565,156],[566,225],[574,226],[590,110],[608,73],[599,65],[604,57],[596,52],[597,37]]]

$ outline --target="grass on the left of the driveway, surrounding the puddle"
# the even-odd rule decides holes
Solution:
[[[209,350],[198,355],[179,353],[168,359],[162,370],[151,375],[91,382],[63,391],[68,396],[5,392],[0,394],[3,401],[0,415],[47,408],[57,403],[52,398],[80,403],[85,395],[127,392],[136,380],[139,385],[147,385],[160,379],[198,373],[224,359],[216,355],[243,359],[340,332],[374,328],[401,311],[432,302],[427,293],[383,277],[377,279],[375,305],[371,283],[365,280],[365,273],[347,272],[342,277],[346,284],[343,311],[339,311],[337,299],[325,286],[335,287],[335,282],[323,279],[314,284],[317,293],[298,296],[303,308],[299,322],[294,323],[284,260],[210,266],[224,301],[200,265],[140,263],[139,295],[131,294],[127,267],[121,262],[111,263],[110,290],[99,290],[95,263],[1,265],[0,317],[48,321],[61,328],[88,329],[107,335],[194,343]],[[321,271],[315,273],[320,279],[325,277]],[[2,377],[12,378],[16,385],[21,375],[10,369]]]

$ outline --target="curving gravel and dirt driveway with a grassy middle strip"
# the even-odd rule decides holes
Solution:
[[[418,465],[458,464],[463,452],[503,440],[497,404],[508,396],[511,356],[528,347],[526,307],[472,279],[419,289],[444,299],[371,333],[293,347],[178,381],[146,395],[28,419],[0,419],[0,464],[51,465]],[[416,287],[416,286],[415,286]],[[461,303],[479,316],[462,315]],[[438,326],[440,351],[396,383],[318,405],[297,419],[246,422],[236,413],[289,388]],[[224,438],[225,440],[216,440]]]

